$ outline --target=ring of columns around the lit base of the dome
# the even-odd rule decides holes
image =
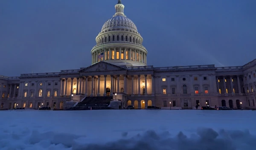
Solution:
[[[98,58],[98,56],[103,52],[104,56],[102,58]],[[138,55],[137,55],[138,54]],[[118,57],[117,57],[118,55]],[[147,63],[147,54],[144,51],[140,51],[137,49],[131,49],[131,48],[125,48],[122,50],[122,48],[111,50],[111,48],[108,49],[101,49],[93,52],[92,54],[92,63],[99,62],[101,60],[132,60],[142,63]]]

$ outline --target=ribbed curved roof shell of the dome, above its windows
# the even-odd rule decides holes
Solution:
[[[137,31],[136,25],[127,17],[123,15],[116,15],[109,19],[102,26],[102,31],[114,31],[114,30],[125,30],[125,31]]]

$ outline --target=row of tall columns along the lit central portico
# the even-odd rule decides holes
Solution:
[[[117,87],[115,89],[115,92],[119,93],[119,86],[120,86],[120,75],[110,75],[111,76],[111,96],[113,94],[114,91],[114,83],[117,81]],[[127,93],[127,76],[126,75],[122,75],[124,77],[124,93]],[[140,76],[141,75],[137,75],[138,76],[138,83],[140,83]],[[147,94],[147,75],[143,75],[145,76],[145,94]],[[85,96],[100,96],[100,78],[101,76],[90,76],[90,78],[92,78],[92,83],[91,83],[91,91],[90,93],[88,93],[87,91],[87,87],[88,87],[88,78],[89,76],[84,76],[84,77],[79,77],[76,78],[77,79],[77,84],[76,84],[76,93],[74,94],[79,94],[79,93],[84,93]],[[73,79],[71,78],[71,88],[70,88],[70,94],[73,93]],[[152,94],[154,94],[154,76],[151,75],[151,79],[152,79]],[[67,96],[67,80],[68,78],[65,78],[65,80],[62,80],[61,82],[61,95],[66,95]],[[65,83],[64,83],[65,82]],[[103,96],[107,96],[107,75],[104,75],[104,94]],[[81,85],[83,85],[83,87],[81,87]],[[94,90],[96,91],[96,85],[97,85],[97,93],[94,93]],[[79,90],[78,90],[79,89]],[[138,93],[140,95],[140,84],[138,84]],[[131,94],[134,95],[134,75],[131,75]]]

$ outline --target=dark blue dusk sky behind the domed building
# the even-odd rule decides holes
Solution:
[[[117,0],[0,0],[0,75],[91,65]],[[256,58],[256,0],[122,0],[148,65],[244,65]]]

